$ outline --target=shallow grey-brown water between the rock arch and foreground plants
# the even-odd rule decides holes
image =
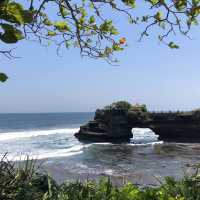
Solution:
[[[99,153],[99,157],[96,159],[91,159],[91,151],[93,152],[94,149],[89,149],[82,155],[41,159],[36,162],[37,165],[41,166],[40,172],[50,174],[59,184],[65,181],[73,182],[80,180],[84,182],[88,179],[99,180],[101,177],[109,177],[112,183],[117,186],[131,182],[140,187],[155,187],[159,186],[166,176],[180,179],[185,173],[191,174],[193,171],[192,165],[197,164],[200,160],[200,144],[164,143],[149,147],[138,146],[135,148],[129,146],[125,147],[124,152],[121,147],[119,149],[120,152],[118,152],[117,149],[119,146],[100,145],[98,147],[102,147],[104,152],[107,152],[106,148],[108,150],[110,149],[110,151],[116,151],[116,160],[118,160],[119,153],[130,154],[131,152],[129,150],[132,149],[131,151],[136,152],[136,154],[130,154],[132,161],[129,159],[131,158],[129,156],[125,160],[119,160],[118,162],[113,160],[109,164],[108,159],[110,157],[107,158],[106,156],[108,155],[104,154],[104,152]],[[149,149],[160,152],[155,152],[154,155],[152,152],[149,152]],[[191,149],[194,150],[193,153]],[[139,151],[139,154],[137,151]],[[102,158],[101,154],[105,155],[105,158]],[[133,167],[133,169],[130,167]]]

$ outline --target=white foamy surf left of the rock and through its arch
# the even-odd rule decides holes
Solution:
[[[107,142],[82,144],[73,136],[78,130],[79,128],[67,128],[0,133],[0,142],[4,144],[2,145],[0,155],[3,155],[3,152],[8,152],[8,159],[13,161],[25,160],[27,158],[26,155],[31,159],[49,159],[78,155],[92,145],[113,145]],[[131,139],[131,143],[126,143],[128,146],[145,146],[162,143],[162,141],[158,140],[158,135],[150,129],[133,129],[132,131],[134,136]],[[53,137],[47,137],[48,135],[53,135]],[[42,136],[46,137],[41,141],[40,138],[34,139],[35,137]],[[21,140],[23,138],[28,138],[28,140]],[[66,140],[66,138],[69,140]],[[41,142],[40,144],[37,144],[38,139]],[[4,142],[7,140],[9,142]],[[112,174],[112,172],[108,171],[108,174]]]

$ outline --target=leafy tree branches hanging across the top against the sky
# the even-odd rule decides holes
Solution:
[[[139,4],[149,12],[135,16]],[[52,7],[55,15],[50,16]],[[198,24],[200,0],[0,0],[0,42],[15,44],[22,39],[53,42],[58,51],[63,46],[77,47],[82,56],[116,62],[113,53],[124,49],[126,38],[119,35],[105,10],[110,15],[126,15],[131,24],[144,23],[141,39],[148,36],[152,26],[158,26],[161,30],[158,39],[176,49],[179,46],[167,38],[176,32],[188,36],[192,25]],[[12,49],[2,47],[0,55],[14,57]],[[1,73],[0,81],[6,79]]]

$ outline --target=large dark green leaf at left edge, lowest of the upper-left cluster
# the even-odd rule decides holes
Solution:
[[[4,30],[3,34],[0,34],[0,39],[5,43],[16,43],[18,40],[24,39],[22,32],[10,24],[0,24]]]

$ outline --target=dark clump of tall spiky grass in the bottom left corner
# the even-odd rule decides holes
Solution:
[[[0,162],[0,199],[39,200],[48,190],[47,176],[37,173],[35,162],[28,159],[23,166],[5,161]],[[46,185],[46,186],[45,186]]]

